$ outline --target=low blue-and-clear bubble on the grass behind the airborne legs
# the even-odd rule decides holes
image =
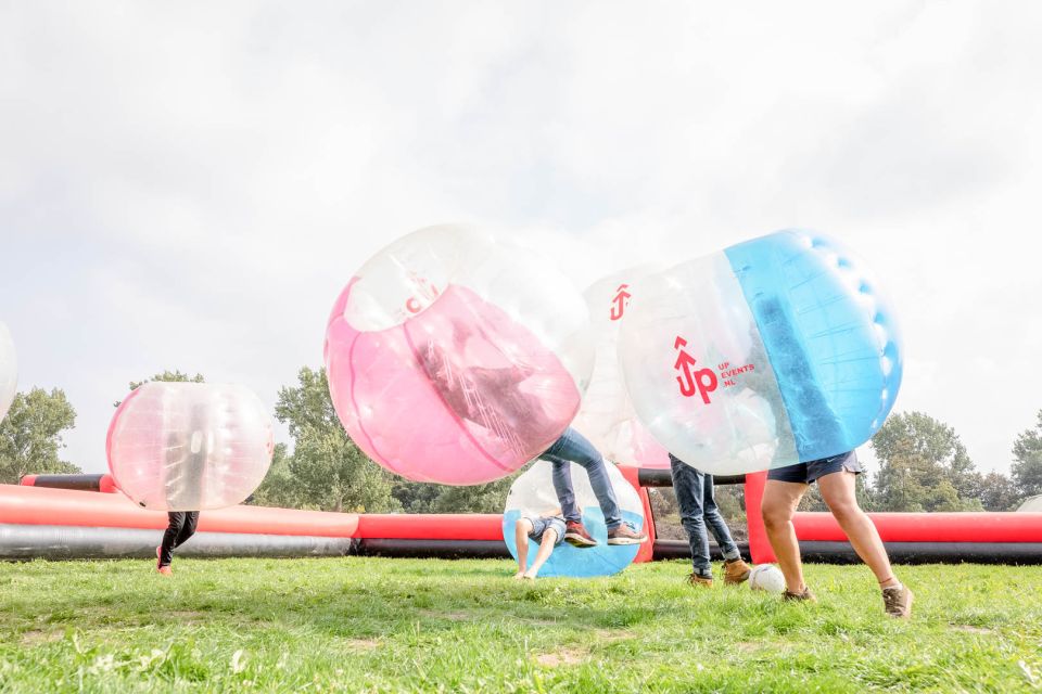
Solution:
[[[607,463],[608,479],[615,491],[615,500],[622,514],[622,520],[639,530],[644,527],[644,504],[633,486],[626,481],[619,468]],[[539,570],[539,576],[611,576],[630,566],[638,544],[608,544],[608,527],[605,514],[589,486],[589,477],[581,465],[571,463],[572,485],[575,490],[575,503],[583,514],[583,524],[595,540],[597,547],[575,548],[562,542],[554,549],[550,558]],[[503,514],[503,539],[513,558],[518,558],[514,542],[514,524],[521,517],[538,517],[560,513],[561,503],[554,490],[554,465],[539,460],[518,477],[507,494],[507,505]],[[529,565],[535,561],[538,543],[529,540]]]

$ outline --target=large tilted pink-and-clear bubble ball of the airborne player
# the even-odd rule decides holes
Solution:
[[[476,485],[549,448],[593,367],[582,295],[549,264],[465,227],[369,259],[333,307],[326,367],[352,439],[391,472]]]

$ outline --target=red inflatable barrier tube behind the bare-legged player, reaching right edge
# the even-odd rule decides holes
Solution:
[[[1042,542],[1042,513],[869,513],[884,542]],[[846,542],[830,513],[798,513],[800,540]]]

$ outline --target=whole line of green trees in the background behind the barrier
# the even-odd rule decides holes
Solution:
[[[202,382],[166,371],[132,382]],[[116,403],[118,404],[118,402]],[[325,369],[303,368],[279,390],[275,416],[289,429],[292,451],[275,448],[271,468],[251,503],[370,513],[498,513],[516,475],[473,487],[414,483],[370,461],[340,424]],[[33,388],[15,396],[0,423],[0,483],[26,474],[80,472],[62,460],[62,434],[76,411],[61,389]],[[891,415],[872,438],[878,468],[859,478],[859,498],[871,511],[1014,511],[1042,494],[1042,410],[1012,447],[1009,474],[981,473],[951,426],[923,412]],[[812,488],[802,509],[824,510]]]

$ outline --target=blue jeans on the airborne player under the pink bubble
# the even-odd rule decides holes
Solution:
[[[622,525],[622,513],[615,500],[615,490],[612,489],[611,480],[608,479],[605,458],[597,452],[593,444],[586,440],[585,436],[568,427],[554,446],[546,449],[539,458],[554,464],[554,490],[557,491],[557,499],[561,502],[561,513],[564,514],[566,520],[577,523],[583,520],[582,510],[575,505],[575,489],[572,487],[571,463],[577,463],[586,470],[589,486],[597,496],[600,510],[605,512],[605,524],[608,529],[614,530]]]

